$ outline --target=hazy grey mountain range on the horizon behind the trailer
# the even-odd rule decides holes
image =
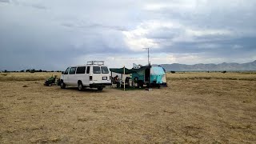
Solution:
[[[245,71],[245,70],[256,70],[256,60],[248,63],[220,63],[220,64],[195,64],[195,65],[184,65],[184,64],[162,64],[160,65],[166,69],[166,71]]]

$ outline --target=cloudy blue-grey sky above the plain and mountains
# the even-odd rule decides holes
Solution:
[[[0,70],[256,60],[254,0],[0,0]]]

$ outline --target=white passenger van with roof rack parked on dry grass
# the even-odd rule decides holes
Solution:
[[[78,86],[78,90],[86,87],[102,90],[105,86],[111,86],[110,72],[103,61],[87,62],[83,66],[70,66],[62,73],[60,86]]]

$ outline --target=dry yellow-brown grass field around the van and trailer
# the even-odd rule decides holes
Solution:
[[[152,91],[62,90],[48,76],[0,74],[0,143],[256,143],[253,73],[167,74]]]

